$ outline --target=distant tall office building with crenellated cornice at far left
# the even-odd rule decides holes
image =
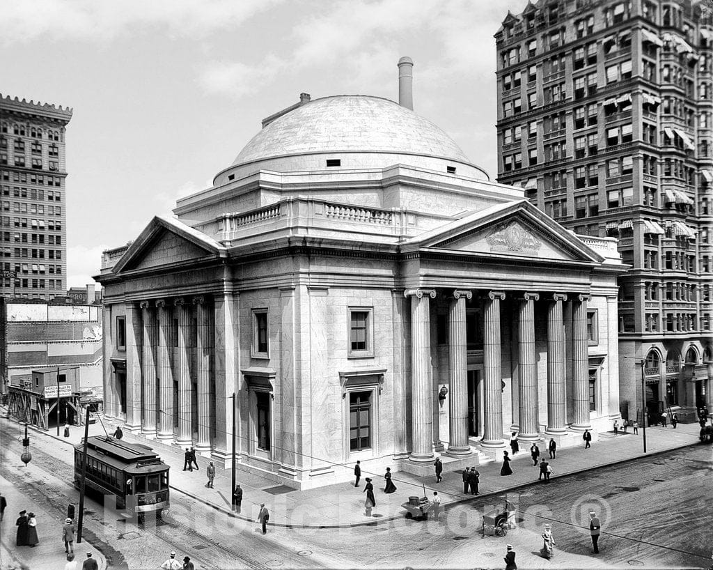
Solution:
[[[66,293],[65,128],[71,108],[0,95],[0,296]]]

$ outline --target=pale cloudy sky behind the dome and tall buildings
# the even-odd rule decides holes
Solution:
[[[525,0],[0,0],[0,93],[73,108],[68,286],[211,185],[262,118],[312,98],[398,100],[496,178],[496,48]]]

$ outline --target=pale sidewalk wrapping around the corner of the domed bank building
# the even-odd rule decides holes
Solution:
[[[109,426],[107,425],[107,429]],[[618,462],[629,461],[645,454],[642,449],[642,432],[638,435],[631,432],[621,432],[615,436],[613,432],[600,432],[599,441],[590,449],[580,447],[562,449],[557,458],[550,461],[553,468],[553,479],[563,475],[596,469]],[[69,439],[56,437],[53,431],[41,432],[48,437],[59,439],[65,444],[76,444],[83,437],[83,428],[73,427]],[[90,435],[103,434],[101,424],[91,424]],[[677,429],[671,427],[648,427],[647,454],[669,451],[698,442],[698,424],[678,424]],[[129,442],[151,444],[143,437],[136,437],[124,431],[124,439]],[[548,457],[546,441],[538,444],[541,457]],[[170,487],[175,491],[198,499],[218,511],[230,513],[230,471],[216,469],[214,489],[205,487],[207,477],[205,469],[209,462],[206,457],[198,457],[200,469],[193,472],[183,471],[183,452],[178,447],[166,449],[157,447],[161,458],[170,465]],[[549,459],[548,459],[549,460]],[[501,477],[501,462],[491,462],[478,466],[480,472],[480,497],[504,494],[523,485],[538,481],[539,469],[533,467],[528,449],[523,449],[513,457],[511,467],[513,474]],[[347,466],[350,470],[353,466]],[[446,465],[447,467],[447,465]],[[242,512],[240,519],[255,521],[260,511],[260,503],[265,503],[270,509],[270,525],[298,526],[314,528],[332,528],[337,526],[358,526],[365,524],[381,524],[396,517],[405,515],[401,504],[408,502],[409,495],[424,494],[433,497],[438,491],[441,505],[453,504],[470,500],[471,495],[463,494],[461,472],[443,472],[443,482],[436,484],[434,477],[416,477],[405,472],[394,472],[393,481],[397,491],[394,494],[384,494],[383,473],[369,473],[362,469],[360,487],[354,489],[354,484],[340,483],[297,491],[285,485],[270,482],[258,475],[237,472],[237,483],[243,489]],[[371,477],[376,495],[376,508],[371,518],[364,512],[364,478]],[[233,515],[235,516],[235,515]]]

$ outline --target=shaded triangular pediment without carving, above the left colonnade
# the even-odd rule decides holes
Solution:
[[[114,273],[179,266],[225,256],[225,247],[195,228],[157,216],[114,266]]]

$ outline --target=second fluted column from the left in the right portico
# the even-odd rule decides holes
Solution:
[[[466,299],[470,291],[453,291],[448,312],[448,360],[450,360],[450,399],[448,412],[448,454],[471,453],[468,444],[468,355],[466,347]]]

